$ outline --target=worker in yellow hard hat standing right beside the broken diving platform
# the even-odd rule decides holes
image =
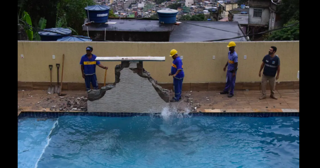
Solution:
[[[171,102],[178,102],[181,99],[182,82],[184,78],[183,65],[181,58],[178,56],[177,50],[171,50],[170,57],[172,57],[173,62],[169,76],[173,77],[174,87],[174,97]]]

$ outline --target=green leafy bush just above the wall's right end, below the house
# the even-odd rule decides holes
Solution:
[[[299,21],[292,19],[288,23],[284,24],[284,26],[289,26],[297,22]],[[276,30],[268,36],[268,40],[276,40],[276,41],[300,40],[300,24],[292,27]]]

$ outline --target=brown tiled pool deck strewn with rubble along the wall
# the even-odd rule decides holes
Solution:
[[[71,97],[86,96],[86,92],[83,92],[83,91],[66,91],[63,93],[67,93],[67,96],[71,96]],[[220,113],[226,112],[226,113],[231,113],[230,115],[234,115],[233,114],[234,112],[238,112],[238,113],[300,112],[300,90],[299,89],[277,90],[276,96],[278,97],[278,100],[271,99],[270,97],[268,97],[265,100],[259,100],[259,97],[261,96],[261,92],[257,90],[236,91],[235,96],[232,98],[228,98],[227,95],[220,95],[219,92],[217,91],[183,92],[183,95],[190,95],[189,97],[190,99],[184,96],[182,103],[173,103],[172,105],[176,105],[178,107],[186,107],[186,106],[191,106],[190,101],[192,101],[194,102],[194,104],[199,103],[201,107],[197,108],[197,112],[203,112],[203,113],[205,112],[218,113],[220,115]],[[45,109],[45,112],[52,112],[50,111],[50,108],[52,107],[52,103],[46,102],[47,99],[49,98],[50,100],[56,100],[56,102],[59,102],[58,95],[56,94],[48,95],[43,90],[25,90],[25,91],[18,90],[18,116],[21,111],[43,113]],[[188,100],[189,102],[186,102],[186,100]],[[54,112],[58,114],[59,111],[54,111]],[[83,112],[83,111],[70,111],[70,112],[81,112],[84,115],[86,114],[86,112]],[[65,113],[66,111],[63,112],[63,114]],[[126,115],[131,115],[131,114],[134,114],[134,113],[130,113]],[[107,115],[107,114],[97,113],[97,115]],[[122,114],[112,113],[112,116],[117,116],[117,115],[122,115]],[[226,114],[223,114],[223,115],[226,115]]]

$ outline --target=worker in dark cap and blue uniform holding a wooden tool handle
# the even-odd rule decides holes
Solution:
[[[81,57],[80,65],[82,77],[85,81],[85,87],[87,91],[91,89],[90,83],[92,83],[93,89],[99,89],[98,80],[96,76],[96,66],[98,65],[100,68],[108,69],[108,67],[100,64],[99,61],[96,61],[97,56],[92,54],[93,48],[92,46],[88,46],[86,48],[87,54]]]

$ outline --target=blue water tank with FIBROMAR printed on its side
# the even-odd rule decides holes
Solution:
[[[109,16],[109,10],[110,10],[109,6],[92,5],[92,6],[85,7],[84,10],[85,10],[85,13],[87,14],[88,19],[91,22],[92,21],[94,21],[94,23],[108,22],[108,16]]]

